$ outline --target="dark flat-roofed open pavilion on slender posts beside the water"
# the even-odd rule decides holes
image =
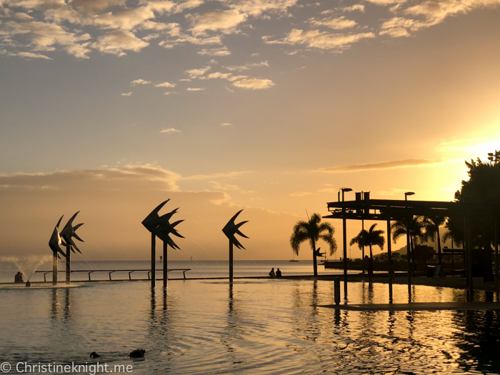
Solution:
[[[365,199],[363,199],[365,197]],[[464,221],[464,264],[466,271],[466,285],[469,291],[472,285],[472,246],[471,246],[471,221],[477,217],[491,218],[495,223],[500,219],[500,204],[466,204],[462,202],[447,201],[407,201],[394,199],[366,199],[363,194],[356,194],[354,201],[336,201],[327,203],[329,215],[324,219],[342,219],[342,231],[346,233],[346,220],[374,220],[387,223],[387,258],[389,270],[389,300],[392,301],[393,267],[391,256],[391,221],[409,221],[414,216],[448,216],[463,218]],[[411,296],[411,256],[409,236],[407,236],[408,249],[408,293]],[[498,235],[495,224],[495,276],[499,278],[499,250]],[[346,239],[344,238],[344,294],[347,292],[347,261]]]

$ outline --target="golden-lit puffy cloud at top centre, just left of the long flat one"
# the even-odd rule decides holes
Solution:
[[[246,21],[247,15],[236,9],[228,11],[211,11],[204,14],[186,15],[194,35],[203,35],[206,31],[221,30],[226,34],[236,31],[236,26]]]

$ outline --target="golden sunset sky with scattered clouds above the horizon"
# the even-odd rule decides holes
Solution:
[[[171,199],[169,259],[227,259],[240,209],[235,259],[290,259],[342,187],[453,200],[500,149],[499,5],[0,0],[0,255],[50,252],[81,211],[77,257],[148,259]]]

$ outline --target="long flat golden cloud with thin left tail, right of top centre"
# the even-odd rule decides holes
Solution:
[[[263,39],[267,44],[306,44],[309,48],[316,49],[345,49],[356,41],[374,37],[375,34],[371,32],[359,34],[331,34],[319,30],[303,31],[293,29],[284,39],[271,41],[266,36],[264,36]]]

